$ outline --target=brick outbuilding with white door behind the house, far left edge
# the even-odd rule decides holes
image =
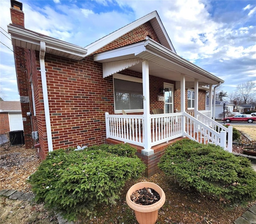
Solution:
[[[19,101],[0,101],[0,134],[23,130]]]

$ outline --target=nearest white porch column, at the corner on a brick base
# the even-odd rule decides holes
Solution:
[[[143,116],[144,116],[144,149],[143,155],[152,155],[154,150],[151,149],[151,125],[150,125],[150,107],[149,107],[149,69],[148,61],[142,61],[142,84],[143,84]]]

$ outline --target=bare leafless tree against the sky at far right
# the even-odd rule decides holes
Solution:
[[[254,100],[256,95],[256,83],[253,81],[247,81],[237,85],[236,87],[238,95],[242,100],[242,103],[247,104],[249,101]]]

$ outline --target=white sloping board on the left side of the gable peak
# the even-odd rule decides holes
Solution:
[[[113,42],[120,36],[123,36],[124,34],[128,33],[131,30],[134,30],[138,26],[152,20],[153,18],[158,17],[156,11],[151,12],[150,14],[143,16],[142,18],[124,26],[123,28],[120,28],[119,30],[116,30],[115,32],[108,34],[107,36],[101,38],[100,40],[97,40],[96,42],[93,42],[92,44],[89,44],[85,48],[87,49],[86,56],[92,54],[93,52],[96,52],[100,48],[103,48],[107,44]]]

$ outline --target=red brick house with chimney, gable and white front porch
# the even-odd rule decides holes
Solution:
[[[127,142],[151,175],[163,144],[209,132],[206,91],[224,81],[176,54],[156,11],[82,48],[25,29],[22,3],[11,4],[22,115],[32,116],[24,121],[25,143],[40,144],[40,159],[60,148]],[[153,115],[156,108],[164,113]],[[215,135],[207,141],[218,145]]]

